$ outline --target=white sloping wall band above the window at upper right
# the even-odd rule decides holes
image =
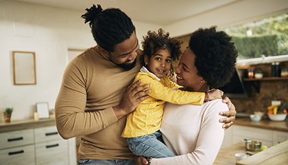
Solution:
[[[165,30],[170,32],[171,36],[183,36],[191,34],[200,27],[208,28],[217,25],[219,28],[226,28],[283,12],[288,12],[287,0],[236,1],[224,7],[171,23],[165,27]]]

